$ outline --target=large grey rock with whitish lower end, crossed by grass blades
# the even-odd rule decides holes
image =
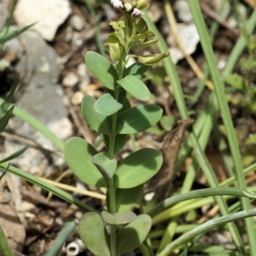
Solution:
[[[25,75],[24,83],[18,93],[15,94],[15,105],[32,114],[58,137],[62,139],[70,137],[72,135],[72,124],[67,119],[68,111],[63,104],[64,92],[61,85],[57,84],[60,64],[55,49],[46,44],[44,39],[40,38],[36,32],[32,31],[22,33],[18,38],[7,42],[4,47],[18,51],[19,61],[15,70]],[[9,128],[15,130],[16,134],[38,143],[43,148],[55,150],[55,146],[41,133],[18,118],[9,121]],[[5,140],[4,150],[6,155],[15,152],[17,148],[15,144],[7,139]],[[19,146],[22,147],[20,143]],[[44,151],[30,147],[13,162],[27,172],[44,175],[46,171],[50,172],[49,169],[52,168],[49,166],[49,160],[53,164],[55,162],[60,163],[58,158],[46,158]]]

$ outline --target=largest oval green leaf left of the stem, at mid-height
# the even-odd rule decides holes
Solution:
[[[73,173],[84,183],[95,187],[106,187],[102,174],[91,161],[96,149],[82,138],[72,137],[65,143],[65,159]]]

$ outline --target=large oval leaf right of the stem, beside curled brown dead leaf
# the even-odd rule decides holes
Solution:
[[[114,173],[114,185],[119,189],[130,189],[145,183],[153,177],[162,166],[160,151],[143,148],[120,161]]]

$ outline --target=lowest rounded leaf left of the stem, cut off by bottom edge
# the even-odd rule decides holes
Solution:
[[[90,252],[96,256],[110,256],[109,236],[102,217],[96,212],[87,212],[79,223],[79,235]],[[100,245],[100,246],[99,246]]]

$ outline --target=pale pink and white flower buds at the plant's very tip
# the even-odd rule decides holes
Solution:
[[[149,0],[111,0],[113,7],[119,10],[131,12],[132,17],[140,17],[143,14],[141,9],[147,7]]]

